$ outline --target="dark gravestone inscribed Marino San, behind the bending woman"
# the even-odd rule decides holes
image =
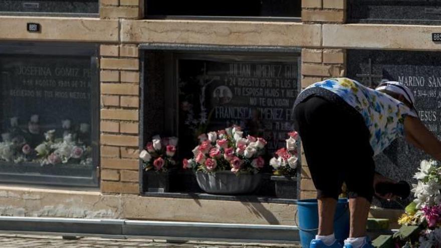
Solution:
[[[439,52],[348,50],[347,59],[349,78],[372,87],[380,83],[381,79],[398,81],[409,87],[415,96],[419,118],[441,140]],[[375,163],[378,172],[395,180],[415,183],[413,174],[420,161],[428,158],[429,155],[400,138],[379,154]],[[399,208],[387,202],[377,204]]]

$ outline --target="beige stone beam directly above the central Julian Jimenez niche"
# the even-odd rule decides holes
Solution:
[[[123,43],[319,47],[321,26],[282,22],[121,21]]]

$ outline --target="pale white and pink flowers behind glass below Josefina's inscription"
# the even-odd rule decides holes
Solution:
[[[56,138],[56,130],[49,130],[42,135],[39,116],[32,115],[27,129],[19,126],[18,117],[11,118],[11,127],[2,134],[0,142],[0,160],[14,162],[35,162],[49,164],[92,164],[92,148],[85,137],[89,124],[81,123],[76,132],[70,120],[62,121],[63,138]]]

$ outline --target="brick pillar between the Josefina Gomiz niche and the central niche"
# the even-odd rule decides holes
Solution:
[[[100,56],[101,191],[138,194],[138,47],[101,45]]]

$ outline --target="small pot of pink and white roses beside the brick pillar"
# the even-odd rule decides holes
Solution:
[[[176,137],[162,138],[153,136],[145,149],[139,153],[149,192],[168,192],[169,172],[176,165],[174,155],[176,153],[178,139]]]

